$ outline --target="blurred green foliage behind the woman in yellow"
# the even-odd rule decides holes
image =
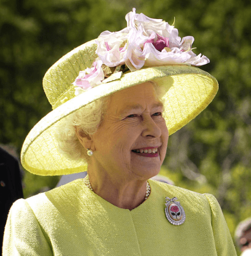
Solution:
[[[170,137],[161,174],[177,186],[214,194],[233,235],[251,216],[251,4],[247,0],[1,0],[0,143],[20,152],[31,128],[49,111],[46,70],[102,31],[126,27],[137,13],[173,23],[210,59],[219,92],[210,106]],[[25,196],[53,188],[59,177],[25,173]]]

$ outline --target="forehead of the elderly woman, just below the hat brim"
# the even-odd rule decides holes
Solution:
[[[121,112],[127,109],[149,107],[163,107],[158,100],[153,83],[145,82],[116,92],[110,98],[109,109]]]

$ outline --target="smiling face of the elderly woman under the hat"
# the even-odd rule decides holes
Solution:
[[[113,94],[102,124],[91,135],[91,163],[118,179],[157,175],[169,136],[163,110],[151,82]]]

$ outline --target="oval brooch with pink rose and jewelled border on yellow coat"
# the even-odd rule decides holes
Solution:
[[[173,225],[181,225],[184,223],[186,219],[186,214],[183,207],[180,205],[180,202],[175,202],[177,200],[176,197],[170,199],[166,197],[166,209],[165,213],[168,221]]]

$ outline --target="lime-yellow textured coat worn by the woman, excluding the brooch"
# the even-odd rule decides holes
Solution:
[[[201,195],[150,180],[150,197],[136,209],[120,209],[77,180],[11,208],[4,256],[236,256],[220,206]],[[165,216],[165,197],[186,212],[180,226]]]

